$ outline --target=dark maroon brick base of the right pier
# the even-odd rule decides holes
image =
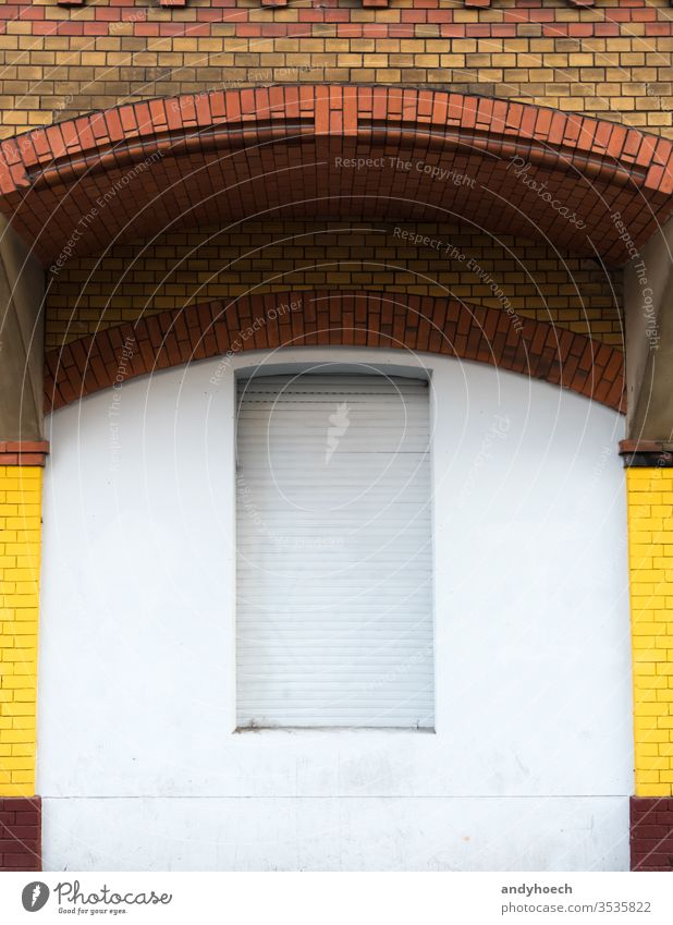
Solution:
[[[631,798],[631,869],[673,872],[673,799]]]

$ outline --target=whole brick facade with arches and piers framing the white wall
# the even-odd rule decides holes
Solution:
[[[623,795],[632,865],[671,869],[672,49],[664,0],[0,5],[0,867],[39,868],[41,806],[74,787],[37,733],[59,454],[42,415],[194,361],[321,346],[480,363],[615,416]],[[301,309],[256,327],[283,300]]]

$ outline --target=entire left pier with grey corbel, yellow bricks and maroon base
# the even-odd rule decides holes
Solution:
[[[0,871],[40,868],[35,795],[44,272],[0,220]]]

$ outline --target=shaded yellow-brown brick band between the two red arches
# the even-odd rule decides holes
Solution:
[[[51,278],[47,346],[133,320],[246,292],[356,289],[442,296],[503,307],[467,260],[412,245],[394,226],[243,222],[230,232],[164,234],[117,245],[102,257],[71,258]],[[404,226],[456,245],[485,270],[522,317],[535,317],[607,343],[623,341],[621,277],[540,243],[473,228]]]

